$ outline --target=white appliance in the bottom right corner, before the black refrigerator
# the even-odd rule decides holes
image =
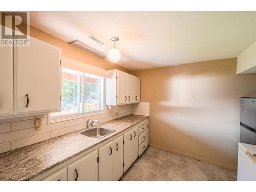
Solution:
[[[256,181],[256,145],[238,143],[238,181]]]

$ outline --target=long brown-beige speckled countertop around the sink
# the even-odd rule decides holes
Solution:
[[[105,140],[129,129],[148,116],[127,115],[97,126],[116,130],[99,140],[78,135],[75,132],[18,148],[0,155],[0,181],[28,181],[47,170],[68,161]]]

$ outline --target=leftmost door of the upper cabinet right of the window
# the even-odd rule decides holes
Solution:
[[[126,103],[127,97],[127,73],[117,71],[117,99],[118,104]]]

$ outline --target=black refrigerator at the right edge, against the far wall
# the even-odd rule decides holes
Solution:
[[[256,98],[241,97],[240,142],[256,145]]]

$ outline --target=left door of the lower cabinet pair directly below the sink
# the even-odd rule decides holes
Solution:
[[[99,181],[113,181],[113,141],[99,147]]]

